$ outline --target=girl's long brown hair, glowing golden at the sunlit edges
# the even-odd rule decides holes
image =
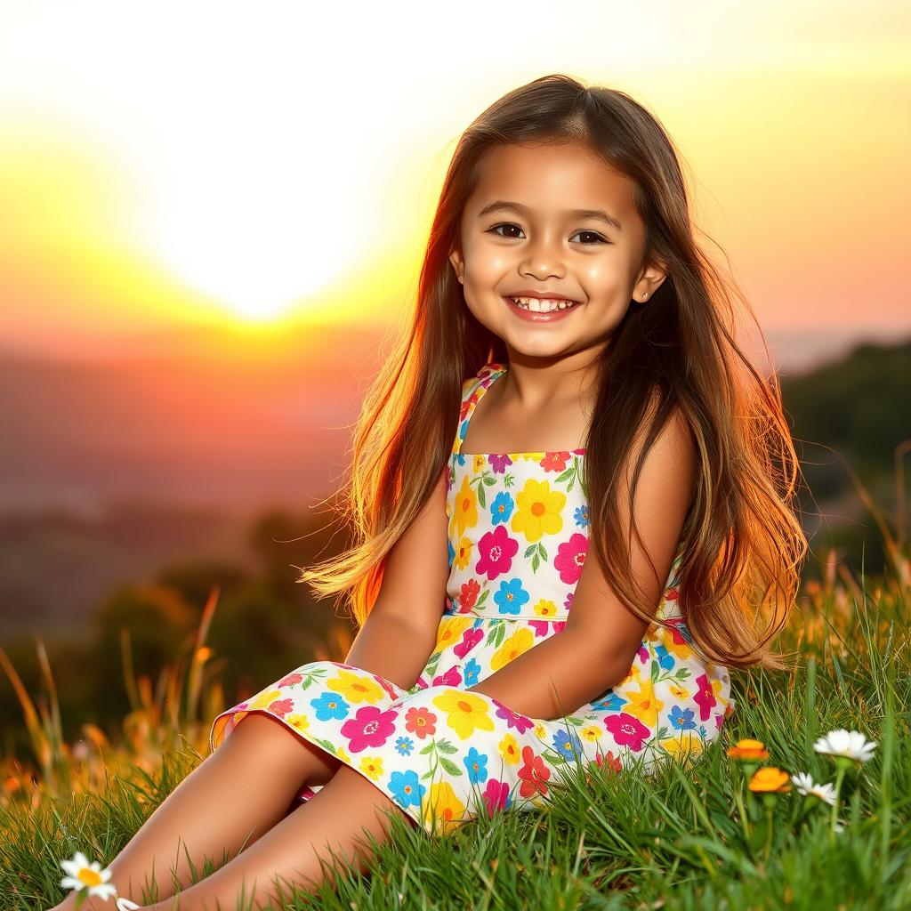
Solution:
[[[754,323],[755,316],[736,283],[694,239],[678,155],[658,119],[622,91],[584,87],[564,75],[508,92],[459,139],[410,329],[384,359],[355,426],[350,477],[338,507],[355,544],[302,569],[298,581],[310,583],[316,597],[347,595],[363,624],[386,556],[448,470],[463,383],[485,363],[507,363],[505,344],[468,310],[448,255],[486,153],[532,141],[582,143],[626,175],[646,226],[640,265],[654,257],[667,270],[649,306],[630,307],[597,364],[599,393],[583,464],[589,549],[628,608],[660,623],[656,606],[630,582],[616,478],[644,429],[630,486],[632,515],[645,455],[679,409],[698,457],[677,587],[686,626],[709,660],[785,669],[769,643],[793,607],[808,545],[793,513],[801,474],[777,377],[760,375],[734,338],[734,302]]]

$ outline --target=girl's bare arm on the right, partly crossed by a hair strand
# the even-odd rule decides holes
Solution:
[[[634,447],[630,465],[635,465],[637,457]],[[630,530],[632,571],[656,610],[691,501],[694,466],[689,428],[675,412],[646,455],[633,502],[640,534],[660,581],[632,537],[626,508],[631,472],[626,475],[627,486],[619,493],[619,508]],[[647,629],[648,624],[630,613],[609,588],[591,552],[578,579],[566,627],[470,691],[492,696],[532,718],[562,718],[627,676]]]

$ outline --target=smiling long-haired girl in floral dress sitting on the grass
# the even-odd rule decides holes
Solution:
[[[396,815],[438,836],[541,807],[568,763],[698,755],[729,667],[785,666],[798,464],[693,230],[670,139],[622,92],[542,77],[466,130],[354,438],[360,541],[302,573],[349,596],[353,647],[215,719],[111,865],[120,896],[315,890]]]

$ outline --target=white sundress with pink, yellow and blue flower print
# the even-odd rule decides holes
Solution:
[[[678,550],[658,615],[623,681],[558,720],[469,687],[566,626],[589,547],[584,449],[464,454],[468,421],[507,367],[463,387],[449,459],[449,566],[435,650],[410,690],[342,661],[302,664],[212,722],[210,746],[251,711],[351,766],[428,834],[477,814],[530,810],[566,763],[617,772],[697,755],[734,708],[727,668],[702,658],[677,604]],[[319,785],[303,786],[305,801]]]

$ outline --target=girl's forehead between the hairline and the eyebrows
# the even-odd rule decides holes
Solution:
[[[476,188],[466,203],[466,215],[491,200],[511,200],[541,214],[603,207],[625,223],[636,216],[633,191],[632,180],[609,168],[584,146],[499,146],[481,160]]]

